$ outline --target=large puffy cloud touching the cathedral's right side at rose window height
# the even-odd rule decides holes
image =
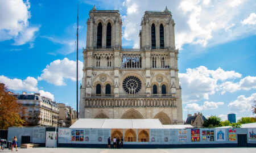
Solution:
[[[183,102],[189,103],[201,99],[208,99],[218,89],[218,80],[240,78],[241,74],[235,71],[208,70],[205,66],[187,69],[186,73],[179,73],[181,87],[183,87]]]

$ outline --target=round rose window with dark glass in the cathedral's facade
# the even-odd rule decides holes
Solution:
[[[128,94],[136,94],[141,90],[141,80],[136,76],[127,76],[123,80],[123,90]]]

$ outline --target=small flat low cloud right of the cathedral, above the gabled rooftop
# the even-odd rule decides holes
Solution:
[[[208,109],[217,109],[218,105],[224,105],[223,102],[213,102],[213,101],[204,101],[203,105],[199,105],[196,103],[187,104],[185,107],[185,111],[201,111]]]

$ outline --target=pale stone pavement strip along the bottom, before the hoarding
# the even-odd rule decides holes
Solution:
[[[1,152],[12,152],[11,150],[5,149]],[[16,152],[15,149],[13,152]],[[78,153],[78,152],[88,152],[88,153],[222,153],[222,152],[232,152],[232,153],[255,153],[256,148],[155,148],[155,149],[104,149],[104,148],[18,148],[19,153]]]

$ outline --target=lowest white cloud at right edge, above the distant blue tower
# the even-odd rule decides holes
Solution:
[[[245,97],[240,95],[235,101],[228,104],[231,111],[245,112],[250,111],[253,106],[253,101],[256,100],[256,93],[252,94],[250,97]]]

